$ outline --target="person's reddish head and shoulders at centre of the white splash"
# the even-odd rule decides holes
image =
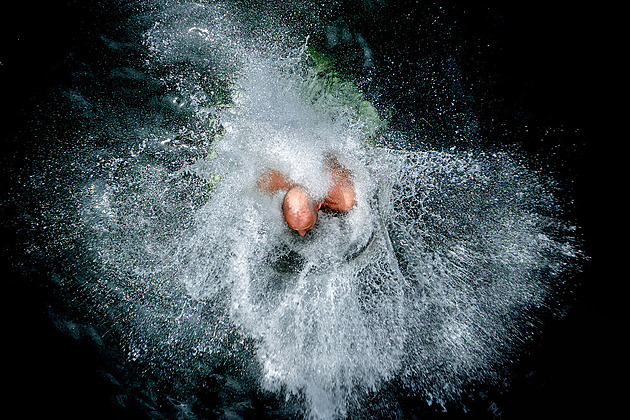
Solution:
[[[326,158],[326,171],[330,174],[331,181],[321,200],[313,198],[306,188],[276,169],[261,174],[258,188],[268,194],[286,191],[282,200],[284,220],[290,229],[304,236],[315,227],[319,210],[345,213],[356,204],[352,173],[332,156]]]

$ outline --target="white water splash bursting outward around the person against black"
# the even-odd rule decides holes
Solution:
[[[439,404],[500,381],[579,255],[552,183],[505,152],[394,147],[405,134],[322,81],[310,39],[271,13],[134,19],[141,37],[103,42],[141,65],[103,76],[116,100],[65,91],[94,123],[51,165],[72,166],[69,235],[94,273],[76,287],[130,361],[184,396],[233,366],[313,418],[392,381]],[[322,196],[329,155],[357,205],[299,237],[257,178]]]

